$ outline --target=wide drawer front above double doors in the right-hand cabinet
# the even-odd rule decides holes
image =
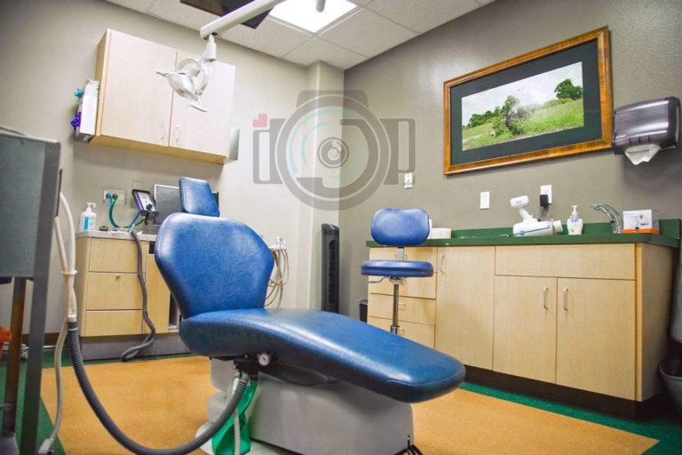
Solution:
[[[634,280],[635,244],[497,246],[495,273]]]

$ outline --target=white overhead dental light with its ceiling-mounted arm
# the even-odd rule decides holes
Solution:
[[[216,60],[216,41],[215,36],[224,32],[228,28],[253,19],[259,14],[268,12],[275,5],[281,4],[285,0],[253,0],[249,4],[230,12],[225,16],[213,20],[199,30],[199,36],[208,40],[206,50],[199,59],[184,59],[178,62],[174,71],[156,71],[157,74],[168,79],[169,84],[178,95],[194,100],[192,107],[202,112],[208,109],[203,106],[202,95],[209,84],[210,70],[212,63]],[[308,0],[315,2],[318,12],[324,10],[325,0]]]

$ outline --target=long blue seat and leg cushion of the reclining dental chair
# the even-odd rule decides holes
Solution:
[[[406,403],[443,395],[464,380],[464,366],[455,358],[326,311],[214,311],[184,319],[180,335],[198,355],[233,357],[267,352],[278,362]]]

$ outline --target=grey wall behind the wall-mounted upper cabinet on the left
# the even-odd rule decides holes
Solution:
[[[76,222],[87,201],[98,204],[98,223],[108,224],[101,206],[102,188],[125,188],[133,181],[177,185],[178,177],[209,180],[220,192],[220,208],[250,224],[268,243],[282,235],[291,248],[291,283],[297,281],[299,226],[297,198],[283,186],[252,181],[251,121],[264,113],[286,117],[295,110],[297,94],[306,88],[306,69],[265,54],[218,40],[218,60],[236,66],[234,122],[242,129],[240,159],[219,166],[135,150],[92,147],[71,139],[76,87],[94,76],[99,39],[107,28],[187,52],[201,53],[198,32],[133,12],[103,0],[31,0],[0,2],[0,124],[61,142],[62,191]],[[163,69],[163,68],[159,68]],[[1,204],[1,203],[0,203]],[[132,209],[117,208],[117,220],[130,220]],[[276,219],[277,223],[272,220]],[[310,235],[308,235],[310,237]],[[305,263],[309,258],[305,257]],[[64,315],[59,260],[52,249],[47,331],[59,331]],[[0,326],[9,326],[10,286],[0,286]],[[30,291],[30,290],[29,290]],[[284,305],[297,299],[289,286]],[[27,318],[28,319],[28,318]],[[25,328],[28,325],[25,325]]]

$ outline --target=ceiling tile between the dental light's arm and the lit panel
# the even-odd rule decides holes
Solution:
[[[230,28],[220,35],[232,43],[265,52],[275,57],[282,57],[287,52],[296,49],[299,45],[313,37],[297,28],[289,27],[277,20],[267,18],[258,28],[237,26]]]

